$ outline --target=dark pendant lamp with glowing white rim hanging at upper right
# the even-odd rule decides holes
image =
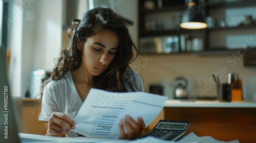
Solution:
[[[187,9],[181,19],[180,27],[184,29],[204,29],[207,28],[202,7],[197,0],[188,0]]]

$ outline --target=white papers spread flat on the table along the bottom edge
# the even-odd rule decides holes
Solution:
[[[131,143],[239,143],[239,140],[232,141],[220,141],[212,138],[210,136],[202,136],[199,137],[193,132],[188,135],[182,137],[179,141],[169,141],[163,140],[160,138],[148,136],[141,139],[136,140],[125,140],[125,139],[116,139],[116,138],[88,138],[88,137],[55,137],[55,136],[45,136],[45,135],[36,135],[36,134],[26,134],[26,133],[18,133],[20,142],[22,143],[31,143],[31,142],[131,142]]]

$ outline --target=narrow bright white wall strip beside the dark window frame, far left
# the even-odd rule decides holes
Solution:
[[[7,48],[11,51],[9,84],[14,96],[20,96],[22,85],[22,3],[18,0],[9,2],[8,41]]]

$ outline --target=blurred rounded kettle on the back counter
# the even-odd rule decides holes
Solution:
[[[175,79],[175,87],[174,87],[174,99],[187,99],[188,92],[187,92],[187,79],[184,77],[177,77]]]

